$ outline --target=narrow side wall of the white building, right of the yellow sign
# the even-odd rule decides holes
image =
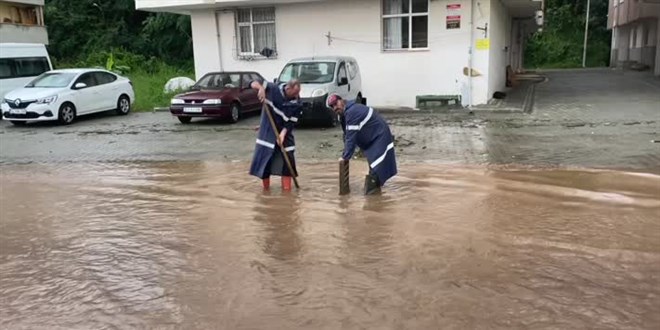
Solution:
[[[511,17],[500,0],[492,0],[490,5],[490,37],[488,96],[506,87],[506,67],[509,65],[508,52],[511,46]]]

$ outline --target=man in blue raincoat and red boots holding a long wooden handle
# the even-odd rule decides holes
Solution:
[[[279,132],[279,136],[275,136],[268,115],[262,112],[250,174],[262,179],[265,190],[270,189],[271,175],[282,177],[282,190],[291,190],[291,179],[298,173],[294,158],[296,140],[293,128],[302,112],[302,103],[299,100],[300,83],[292,80],[276,85],[266,81],[253,81],[250,87],[258,91],[259,100],[268,106]],[[282,149],[289,155],[293,173],[284,161]]]

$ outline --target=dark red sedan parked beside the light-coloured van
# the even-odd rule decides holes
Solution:
[[[261,110],[257,91],[250,82],[263,81],[256,72],[211,72],[189,92],[176,95],[170,112],[184,124],[195,117],[212,117],[237,122],[242,115]]]

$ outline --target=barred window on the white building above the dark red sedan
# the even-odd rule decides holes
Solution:
[[[239,9],[236,24],[239,55],[258,55],[265,48],[277,50],[275,8]]]

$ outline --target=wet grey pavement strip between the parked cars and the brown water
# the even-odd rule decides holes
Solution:
[[[610,69],[552,71],[532,113],[385,113],[400,162],[515,164],[660,172],[660,80]],[[246,161],[258,116],[237,124],[167,112],[112,112],[70,126],[0,124],[0,164]],[[299,162],[335,161],[340,128],[296,130]]]

